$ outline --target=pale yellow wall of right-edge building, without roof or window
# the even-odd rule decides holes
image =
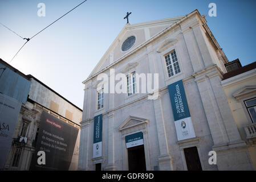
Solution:
[[[245,108],[244,100],[255,98],[256,97],[256,71],[252,69],[240,75],[227,78],[223,80],[222,86],[229,102],[230,109],[232,111],[235,124],[238,127],[239,134],[241,138],[246,141],[251,160],[256,168],[256,147],[255,142],[251,139],[247,139],[246,135],[246,126],[252,125],[252,121],[247,113]],[[250,92],[246,93],[247,86],[254,86],[249,88]],[[235,96],[236,93],[239,93],[241,96]]]

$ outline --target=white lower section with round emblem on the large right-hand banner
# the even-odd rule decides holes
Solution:
[[[191,117],[174,121],[178,140],[196,137]]]

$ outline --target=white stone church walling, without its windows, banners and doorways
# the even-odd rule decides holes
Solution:
[[[129,36],[136,42],[124,52]],[[164,56],[175,50],[181,72],[169,77]],[[79,167],[95,170],[128,170],[125,136],[141,131],[147,170],[186,170],[184,148],[197,147],[203,170],[254,169],[246,143],[241,139],[224,89],[224,64],[228,60],[214,39],[206,20],[197,10],[185,16],[127,24],[94,71],[83,83]],[[159,97],[149,93],[104,94],[104,107],[97,110],[97,75],[136,72],[159,74]],[[177,140],[167,86],[183,80],[195,138]],[[92,158],[94,117],[103,114],[101,158]],[[208,163],[209,151],[217,152],[217,165]],[[239,160],[237,160],[239,158]]]

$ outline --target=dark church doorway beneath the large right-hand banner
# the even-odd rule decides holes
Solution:
[[[202,171],[197,147],[184,148],[184,154],[188,171]]]

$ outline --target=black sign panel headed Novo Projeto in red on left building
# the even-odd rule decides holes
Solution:
[[[31,170],[68,170],[78,129],[43,111]],[[38,151],[45,152],[45,164],[38,164]]]

